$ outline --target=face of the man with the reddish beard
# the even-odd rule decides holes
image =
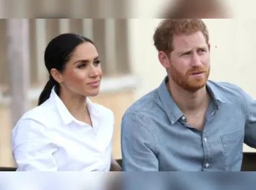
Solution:
[[[198,91],[206,85],[210,74],[210,45],[202,32],[192,35],[175,35],[174,50],[170,53],[170,79],[187,91]]]

